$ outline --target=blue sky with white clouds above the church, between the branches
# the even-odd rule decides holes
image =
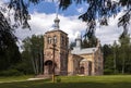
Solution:
[[[2,1],[4,2],[7,0]],[[2,1],[0,1],[0,3],[2,3]],[[81,33],[83,35],[86,30],[86,23],[78,18],[79,15],[86,11],[86,8],[87,4],[82,3],[78,5],[72,4],[66,11],[57,11],[57,2],[51,2],[51,0],[43,1],[36,5],[31,4],[28,8],[31,20],[28,22],[32,30],[17,28],[15,35],[21,43],[27,36],[31,37],[34,34],[44,35],[46,32],[52,30],[56,12],[58,12],[60,29],[68,33],[70,42],[74,41],[78,34]],[[122,14],[123,12],[120,12],[116,17],[110,17],[108,26],[97,25],[95,35],[100,40],[102,45],[112,45],[115,40],[118,40],[118,37],[122,33],[122,27],[118,28],[117,22]],[[129,25],[129,34],[131,34],[131,25]]]

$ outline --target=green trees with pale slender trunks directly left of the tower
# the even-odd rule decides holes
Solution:
[[[35,74],[43,74],[44,72],[44,38],[43,36],[33,35],[23,40],[23,62],[29,64],[28,67],[34,68]],[[31,65],[32,62],[32,65]]]

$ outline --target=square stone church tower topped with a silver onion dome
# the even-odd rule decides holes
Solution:
[[[59,29],[60,20],[55,18],[55,29],[44,35],[44,74],[51,75],[55,67],[56,75],[68,74],[68,34]]]

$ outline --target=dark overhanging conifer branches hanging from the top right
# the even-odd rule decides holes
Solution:
[[[118,26],[123,26],[124,29],[131,20],[131,0],[119,0],[118,2],[112,0],[60,0],[59,5],[66,10],[72,2],[88,4],[86,12],[80,15],[79,18],[87,23],[90,34],[94,34],[92,32],[96,27],[96,20],[99,20],[100,25],[108,25],[108,17],[116,16],[120,12],[120,8],[127,7],[127,11],[119,18]]]

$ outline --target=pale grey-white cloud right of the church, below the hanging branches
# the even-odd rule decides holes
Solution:
[[[122,34],[123,28],[118,27],[118,18],[123,14],[120,12],[116,17],[109,18],[108,26],[100,26],[96,29],[96,36],[100,39],[102,43],[112,45],[115,40],[118,41],[119,36]],[[129,34],[131,35],[131,24],[129,25]]]

